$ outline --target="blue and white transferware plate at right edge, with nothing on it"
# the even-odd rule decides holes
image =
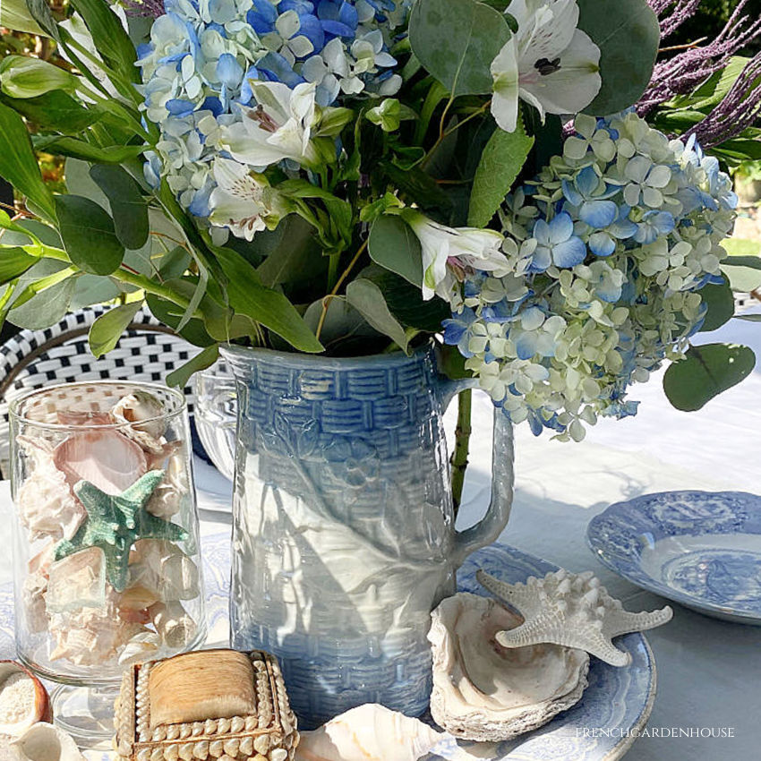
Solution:
[[[611,505],[586,531],[629,581],[718,619],[761,626],[761,497],[662,492]]]

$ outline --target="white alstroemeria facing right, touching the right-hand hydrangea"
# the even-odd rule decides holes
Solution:
[[[451,302],[457,284],[475,269],[507,275],[509,262],[500,251],[504,236],[479,227],[447,227],[413,209],[403,212],[423,247],[423,299],[438,295]]]

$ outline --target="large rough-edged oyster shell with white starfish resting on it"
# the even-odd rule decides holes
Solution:
[[[576,704],[586,688],[589,655],[583,650],[500,646],[498,632],[523,619],[495,600],[455,594],[431,618],[431,714],[455,737],[509,740]]]

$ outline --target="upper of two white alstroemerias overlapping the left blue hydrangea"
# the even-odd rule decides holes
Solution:
[[[241,107],[243,121],[221,130],[219,145],[236,161],[269,167],[283,158],[303,166],[318,163],[310,138],[315,121],[313,82],[291,90],[282,82],[250,81],[257,106]]]

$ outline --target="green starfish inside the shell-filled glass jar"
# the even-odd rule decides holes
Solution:
[[[74,493],[87,510],[87,517],[71,539],[62,539],[53,551],[55,560],[74,552],[99,547],[106,556],[106,576],[116,592],[127,585],[130,550],[138,539],[167,539],[183,542],[187,532],[145,509],[150,495],[164,477],[151,470],[121,494],[101,492],[89,481],[74,485]]]

